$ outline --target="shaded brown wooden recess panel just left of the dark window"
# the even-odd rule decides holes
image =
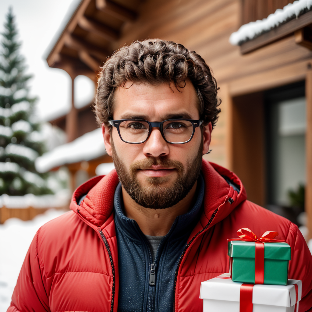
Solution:
[[[266,198],[263,93],[234,97],[232,118],[232,169],[244,184],[248,199],[264,206]]]

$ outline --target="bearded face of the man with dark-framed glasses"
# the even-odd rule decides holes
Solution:
[[[199,119],[197,95],[192,83],[177,90],[168,83],[159,85],[127,82],[114,95],[114,120]],[[174,92],[173,92],[174,91]],[[207,129],[206,129],[207,128]],[[185,144],[167,143],[159,128],[152,128],[141,144],[123,142],[117,129],[103,126],[105,147],[127,193],[141,206],[171,207],[183,199],[198,178],[202,154],[210,143],[211,126],[196,128],[193,139]]]

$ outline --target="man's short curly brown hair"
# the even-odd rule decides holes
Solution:
[[[182,44],[160,39],[135,41],[115,51],[101,67],[95,96],[99,125],[109,125],[113,115],[114,91],[126,81],[152,85],[168,82],[178,89],[190,80],[197,92],[200,119],[215,126],[221,100],[217,81],[203,58]]]

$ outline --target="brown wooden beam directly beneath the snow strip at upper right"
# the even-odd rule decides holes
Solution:
[[[255,51],[263,46],[278,41],[281,38],[290,36],[300,28],[306,27],[312,23],[312,11],[302,14],[297,19],[294,18],[285,24],[273,28],[269,32],[262,34],[255,39],[246,41],[241,45],[241,54],[246,54]]]

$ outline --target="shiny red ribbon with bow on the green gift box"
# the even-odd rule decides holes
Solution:
[[[255,257],[255,284],[264,282],[264,242],[266,243],[285,243],[286,241],[274,239],[278,232],[266,231],[261,237],[257,237],[248,227],[243,227],[237,231],[240,238],[231,238],[227,241],[254,241],[256,243]],[[247,285],[247,284],[246,284]]]

